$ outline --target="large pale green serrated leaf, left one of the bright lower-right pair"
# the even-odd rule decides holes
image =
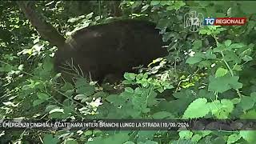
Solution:
[[[210,109],[206,105],[206,98],[198,98],[190,103],[182,118],[202,118],[209,113]]]

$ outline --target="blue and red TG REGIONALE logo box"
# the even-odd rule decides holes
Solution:
[[[246,18],[204,18],[204,26],[242,26]]]

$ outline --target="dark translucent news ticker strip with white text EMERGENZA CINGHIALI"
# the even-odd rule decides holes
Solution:
[[[0,130],[256,130],[255,120],[101,119],[83,121],[0,120]]]

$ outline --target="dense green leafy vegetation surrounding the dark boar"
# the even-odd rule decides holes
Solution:
[[[72,1],[36,2],[36,9],[68,37],[75,30],[138,18],[157,23],[169,55],[124,74],[122,84],[80,77],[62,82],[54,52],[16,2],[0,2],[0,117],[256,118],[256,2]],[[246,17],[244,26],[184,29],[191,10],[205,17]],[[126,99],[130,100],[127,102]],[[256,131],[224,130],[2,130],[0,143],[254,143]]]

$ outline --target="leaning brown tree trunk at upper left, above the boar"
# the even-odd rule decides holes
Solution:
[[[18,1],[18,6],[25,14],[34,26],[38,33],[41,34],[42,38],[45,38],[52,45],[61,47],[65,43],[65,38],[58,33],[54,26],[50,25],[49,22],[46,22],[46,19],[43,18],[42,14],[35,11],[34,2],[30,1]]]

